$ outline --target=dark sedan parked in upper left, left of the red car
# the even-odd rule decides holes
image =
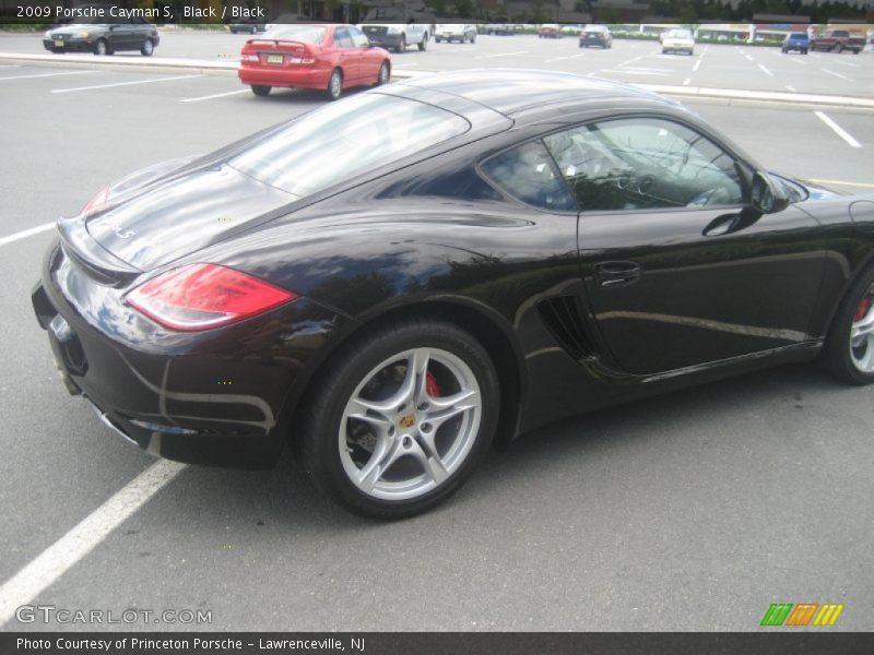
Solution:
[[[160,43],[157,27],[140,17],[83,19],[79,23],[49,29],[43,36],[43,47],[49,52],[94,52],[101,56],[139,50],[143,57],[151,57]]]

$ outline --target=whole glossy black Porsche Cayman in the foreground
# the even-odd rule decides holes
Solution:
[[[871,383],[873,207],[637,87],[458,71],[104,189],[33,306],[128,440],[235,466],[291,440],[398,517],[581,412],[817,357]]]

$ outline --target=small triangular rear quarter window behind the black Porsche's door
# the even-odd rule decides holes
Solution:
[[[482,170],[505,193],[527,204],[558,212],[577,210],[541,141],[495,155],[482,164]]]

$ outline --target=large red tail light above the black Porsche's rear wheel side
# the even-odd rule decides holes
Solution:
[[[210,330],[291,302],[297,294],[217,264],[189,264],[133,289],[126,301],[165,327]]]

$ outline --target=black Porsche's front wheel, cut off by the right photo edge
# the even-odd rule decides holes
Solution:
[[[869,266],[847,291],[831,320],[823,361],[827,370],[842,382],[874,382],[874,336],[852,338],[867,323],[874,325],[874,265]],[[874,334],[874,331],[866,334]],[[853,341],[857,347],[853,347]]]

